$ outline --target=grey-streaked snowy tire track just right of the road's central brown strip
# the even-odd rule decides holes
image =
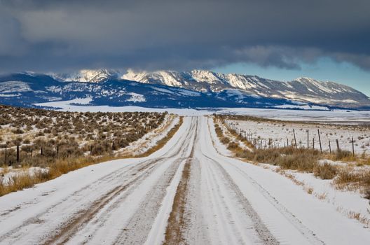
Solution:
[[[205,132],[209,134],[206,137],[210,137],[209,122],[207,119],[203,122],[205,122],[203,127],[207,127]],[[211,146],[214,148],[214,144],[211,144]],[[203,148],[200,148],[197,157],[200,161],[203,159],[203,166],[205,166],[204,169],[207,173],[205,176],[208,176],[206,182],[207,179],[210,179],[207,189],[213,193],[214,197],[212,199],[214,201],[212,203],[215,203],[215,208],[219,209],[215,212],[219,216],[218,223],[227,224],[225,225],[227,231],[219,229],[220,232],[224,232],[221,237],[226,237],[226,242],[231,244],[279,244],[238,186],[235,185],[231,176],[227,175],[217,160],[208,157],[207,153],[203,151]],[[240,216],[245,216],[245,218],[240,218]],[[234,235],[230,236],[230,234]]]

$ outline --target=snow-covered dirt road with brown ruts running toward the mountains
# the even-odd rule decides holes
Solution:
[[[268,169],[228,158],[184,118],[146,158],[0,197],[0,244],[370,244],[370,230]]]

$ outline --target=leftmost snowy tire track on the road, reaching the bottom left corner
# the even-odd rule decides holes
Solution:
[[[193,127],[193,125],[188,123],[186,127]],[[188,131],[187,133],[189,134],[190,131]],[[43,241],[47,241],[48,239],[50,239],[50,237],[53,237],[53,236],[55,237],[56,234],[59,234],[58,231],[63,226],[68,225],[69,223],[71,223],[71,221],[76,219],[75,217],[76,215],[82,216],[82,214],[84,214],[83,213],[84,210],[90,209],[90,206],[92,205],[91,202],[89,202],[88,200],[87,201],[83,200],[83,197],[85,197],[85,195],[89,195],[88,193],[102,192],[101,189],[104,187],[106,187],[106,189],[107,187],[109,187],[109,189],[107,189],[107,192],[103,194],[104,197],[108,197],[110,194],[113,194],[113,193],[118,193],[119,192],[118,190],[120,189],[119,186],[123,186],[125,184],[125,181],[130,181],[130,177],[132,175],[136,175],[138,172],[143,171],[144,169],[146,169],[147,166],[155,162],[167,160],[168,158],[172,158],[176,154],[182,153],[184,149],[181,148],[181,144],[183,144],[182,141],[184,141],[184,137],[177,137],[177,139],[174,139],[174,140],[176,140],[176,142],[172,144],[172,146],[170,147],[170,150],[166,151],[165,153],[160,154],[158,158],[152,158],[149,160],[139,160],[138,159],[138,162],[125,165],[124,167],[121,167],[118,170],[116,170],[116,172],[111,172],[109,174],[106,174],[105,176],[100,177],[100,179],[97,179],[93,183],[90,183],[86,185],[85,187],[76,190],[74,193],[67,195],[66,197],[62,198],[62,200],[59,200],[57,203],[48,207],[46,210],[39,212],[38,214],[32,216],[31,218],[28,218],[21,225],[18,225],[12,230],[6,232],[6,234],[1,235],[0,240],[1,241],[8,240],[9,244],[13,244],[15,241],[20,241],[22,239],[25,240],[26,239],[25,237],[27,237],[27,235],[24,236],[25,232],[27,232],[27,234],[29,235],[33,234],[33,236],[32,235],[31,236],[33,237],[33,239],[36,239],[35,242],[38,242],[38,243],[40,243],[39,239],[43,239]],[[177,147],[177,152],[173,153],[174,148],[176,147]],[[164,156],[167,156],[167,157],[164,157]],[[111,184],[112,182],[116,182],[116,186],[114,184],[112,185]],[[26,204],[25,206],[32,206],[32,205],[35,205],[36,203],[32,202],[32,203]],[[93,202],[93,204],[96,204],[96,203],[97,201]],[[71,209],[70,204],[72,204],[72,206],[74,204],[78,204],[78,206],[75,207],[74,209]],[[62,213],[64,213],[64,211],[66,210],[65,208],[67,208],[67,210],[70,210],[70,211],[67,211],[69,213],[66,213],[67,216],[63,217],[64,221],[58,224],[55,224],[55,223],[53,224],[53,222],[51,222],[51,224],[49,224],[51,225],[48,228],[49,230],[46,230],[46,223],[50,223],[50,217],[55,215],[53,213],[55,213],[55,211],[57,210],[60,210]],[[22,207],[22,210],[23,209],[24,207]],[[15,209],[15,211],[18,211],[18,210],[19,209]],[[11,213],[7,213],[6,215],[11,214]],[[41,230],[46,230],[47,234],[46,235],[45,233],[42,234],[39,228],[41,228]],[[32,232],[32,230],[34,230],[34,232]],[[40,234],[39,238],[37,238],[36,237],[37,235],[35,234]],[[43,238],[40,237],[41,234]]]

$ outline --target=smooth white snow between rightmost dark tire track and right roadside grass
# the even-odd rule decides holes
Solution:
[[[349,220],[336,211],[332,204],[309,195],[284,176],[239,160],[219,156],[220,161],[221,159],[224,160],[226,171],[233,176],[235,183],[266,222],[270,231],[275,237],[280,238],[280,242],[285,244],[319,244],[320,240],[325,244],[370,242],[369,229],[362,228],[358,221]],[[357,202],[356,200],[358,201],[358,197],[348,202]],[[362,207],[365,207],[363,200]],[[297,230],[301,234],[296,233]],[[302,240],[302,235],[310,242]]]

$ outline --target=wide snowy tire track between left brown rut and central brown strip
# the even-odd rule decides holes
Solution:
[[[128,190],[125,190],[122,195],[119,195],[114,200],[111,200],[111,202],[107,204],[106,207],[104,207],[104,210],[96,214],[87,223],[84,223],[83,228],[78,229],[79,231],[75,232],[75,235],[71,237],[71,244],[76,244],[76,242],[83,244],[90,242],[92,242],[93,244],[101,243],[102,240],[100,234],[109,234],[111,238],[109,238],[108,240],[111,241],[112,239],[114,239],[114,237],[117,236],[115,232],[118,229],[120,230],[119,233],[121,233],[118,234],[118,236],[116,237],[118,242],[124,241],[125,244],[130,244],[134,243],[134,241],[132,241],[133,239],[136,239],[135,243],[137,243],[137,239],[144,239],[146,237],[152,225],[151,217],[155,218],[155,214],[158,213],[158,209],[160,207],[159,201],[163,200],[163,195],[165,195],[165,188],[167,188],[167,186],[169,185],[168,181],[172,181],[175,172],[177,172],[177,169],[179,168],[179,165],[186,159],[183,157],[183,155],[189,155],[189,153],[187,153],[187,148],[189,148],[189,144],[191,144],[191,142],[189,142],[189,137],[191,137],[191,134],[194,134],[194,125],[193,123],[188,125],[190,125],[190,129],[186,131],[187,133],[179,137],[176,144],[170,147],[170,150],[165,153],[165,155],[168,155],[166,158],[161,158],[160,165],[163,165],[164,162],[170,162],[170,165],[169,167],[167,167],[167,169],[163,169],[162,167],[163,170],[160,171],[163,171],[163,173],[160,174],[160,178],[158,177],[158,182],[149,184],[146,179],[148,179],[149,177],[150,179],[153,179],[151,175],[154,175],[154,173],[151,172],[150,174],[146,174],[145,178],[137,181],[135,185],[130,186]],[[158,165],[158,162],[156,163],[156,165]],[[165,163],[165,165],[167,166],[168,163]],[[156,167],[156,169],[158,169],[158,167]],[[144,184],[143,181],[146,181],[146,183]],[[151,190],[145,190],[147,194],[144,193],[146,195],[146,197],[143,198],[144,201],[137,200],[137,189],[139,189],[140,185],[153,186]],[[160,188],[162,188],[161,191]],[[132,199],[131,195],[135,195],[136,197]],[[126,200],[130,200],[130,205],[128,205],[128,201]],[[130,214],[132,212],[131,216],[122,213],[122,205],[126,205],[125,207],[130,209],[130,211],[128,212]],[[146,207],[145,209],[140,208],[143,205]],[[145,218],[143,218],[142,216],[145,216]],[[119,221],[114,221],[117,217],[121,217],[121,219]],[[113,229],[114,231],[107,230],[107,228],[111,227],[111,225],[115,226],[115,228]],[[117,225],[118,227],[116,227]],[[119,225],[122,225],[122,228],[120,228]],[[135,227],[139,227],[136,230],[140,230],[141,233],[136,238],[132,237],[132,232],[135,231],[135,229],[132,228],[133,225],[135,225]],[[128,232],[130,233],[130,236],[128,236]],[[111,235],[111,233],[113,233],[113,235]],[[74,239],[74,237],[85,237],[85,239]]]

